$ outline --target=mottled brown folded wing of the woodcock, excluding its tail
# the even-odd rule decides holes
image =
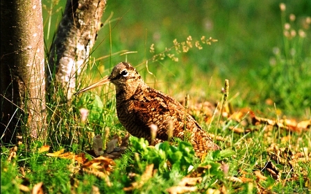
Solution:
[[[199,124],[190,115],[188,116],[185,108],[179,102],[153,88],[137,92],[132,97],[132,102],[133,109],[131,111],[135,113],[137,122],[144,123],[146,127],[150,124],[157,125],[158,138],[167,139],[169,122],[173,124],[174,136],[183,134],[185,120],[195,123],[196,127],[201,129]]]

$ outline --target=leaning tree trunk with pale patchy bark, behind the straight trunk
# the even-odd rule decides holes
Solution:
[[[76,76],[90,56],[105,8],[106,0],[67,0],[56,40],[51,45],[47,84],[50,88],[53,81],[60,86],[68,102],[76,90]],[[53,74],[56,80],[52,80]]]

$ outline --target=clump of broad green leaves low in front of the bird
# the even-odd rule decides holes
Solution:
[[[143,138],[130,138],[130,150],[122,159],[116,161],[115,171],[112,172],[112,186],[104,186],[106,192],[118,191],[120,188],[131,186],[133,181],[140,182],[148,165],[154,165],[155,175],[144,183],[134,193],[158,193],[178,184],[183,177],[196,171],[196,168],[209,165],[204,173],[205,185],[212,184],[217,179],[224,179],[219,161],[228,159],[234,154],[230,150],[210,152],[203,163],[195,157],[194,149],[189,143],[178,140],[178,145],[170,145],[168,142],[149,146]],[[126,173],[135,173],[137,177],[128,179]],[[155,190],[153,187],[157,186]]]

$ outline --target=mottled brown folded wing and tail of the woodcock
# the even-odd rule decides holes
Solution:
[[[145,124],[146,130],[150,130],[149,126],[155,124],[158,126],[157,138],[167,140],[167,131],[171,122],[174,137],[184,139],[185,135],[189,136],[196,152],[205,153],[207,150],[219,149],[179,102],[153,88],[144,91],[149,93],[138,93],[133,97],[132,111],[135,120]],[[186,131],[189,134],[186,134]]]

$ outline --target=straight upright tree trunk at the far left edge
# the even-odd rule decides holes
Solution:
[[[15,142],[16,133],[45,136],[43,38],[40,0],[1,1],[0,127],[6,143]]]

